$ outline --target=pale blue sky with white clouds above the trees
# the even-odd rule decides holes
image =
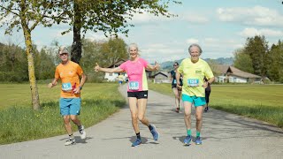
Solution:
[[[128,37],[119,34],[127,44],[137,43],[140,54],[149,63],[163,63],[189,57],[187,48],[198,43],[202,58],[233,57],[236,49],[244,47],[248,37],[264,35],[271,46],[283,40],[283,4],[281,0],[180,0],[170,4],[174,18],[138,14],[131,21]],[[50,46],[56,40],[70,46],[73,33],[61,35],[65,25],[36,27],[32,39],[38,48]],[[105,40],[103,33],[88,31],[86,38]],[[0,27],[0,42],[14,42],[24,46],[22,32],[4,35]]]

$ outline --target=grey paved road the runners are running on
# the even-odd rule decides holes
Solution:
[[[120,87],[126,96],[126,87]],[[161,134],[155,141],[140,125],[142,145],[131,147],[134,130],[128,107],[87,129],[87,140],[65,147],[66,135],[0,146],[0,159],[19,158],[282,158],[283,130],[219,110],[204,114],[203,145],[182,144],[186,130],[183,113],[173,111],[173,98],[149,91],[147,117]],[[195,112],[193,111],[193,114]],[[195,118],[192,134],[195,136]]]

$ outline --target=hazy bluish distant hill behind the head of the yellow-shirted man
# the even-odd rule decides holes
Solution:
[[[166,61],[164,63],[161,63],[160,64],[160,67],[163,69],[163,70],[167,70],[167,71],[170,71],[173,69],[173,64],[174,62],[178,62],[180,64],[180,62],[182,61],[183,59],[180,59],[180,60],[176,60],[176,61]],[[216,64],[225,64],[225,65],[233,65],[233,57],[220,57],[220,58],[217,58],[217,59],[211,59],[211,58],[204,58],[205,61],[210,61],[212,60],[213,62],[215,62]]]

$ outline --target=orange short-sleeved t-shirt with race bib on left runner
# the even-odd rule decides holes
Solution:
[[[80,94],[73,94],[74,87],[80,87],[80,75],[83,73],[79,64],[68,61],[67,64],[58,64],[55,79],[61,79],[61,98],[79,98]]]

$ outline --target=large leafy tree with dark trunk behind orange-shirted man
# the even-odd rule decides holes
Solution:
[[[71,60],[79,63],[82,51],[81,32],[86,34],[88,30],[103,31],[105,36],[127,34],[128,27],[134,27],[128,23],[134,13],[149,12],[155,16],[163,15],[168,18],[174,16],[167,11],[171,2],[180,4],[174,0],[66,0],[64,4],[58,6],[60,10],[64,10],[64,14],[61,19],[57,19],[57,23],[70,25],[70,28],[62,34],[73,29]]]

